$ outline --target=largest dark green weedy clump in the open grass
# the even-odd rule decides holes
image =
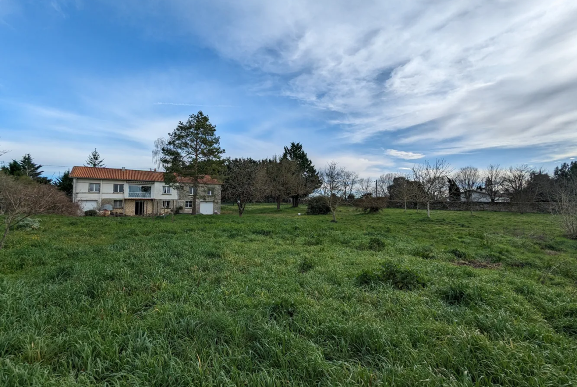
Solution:
[[[357,276],[357,283],[359,285],[388,283],[392,287],[404,291],[426,287],[427,285],[425,279],[419,273],[390,262],[383,264],[377,272],[362,272]]]

